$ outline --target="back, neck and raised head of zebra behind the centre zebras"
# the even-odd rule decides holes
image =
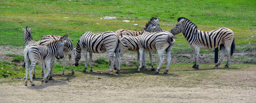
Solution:
[[[153,24],[153,26],[156,26],[156,30],[162,31],[162,28],[159,26],[159,23],[158,23],[159,20],[160,20],[160,18],[157,19],[155,17],[152,17],[148,21],[148,23],[151,23],[151,24]],[[121,35],[139,36],[145,31],[145,27],[146,26],[144,26],[144,30],[141,30],[141,31],[132,31],[132,30],[119,29],[115,33],[117,33],[119,36],[121,36]]]

